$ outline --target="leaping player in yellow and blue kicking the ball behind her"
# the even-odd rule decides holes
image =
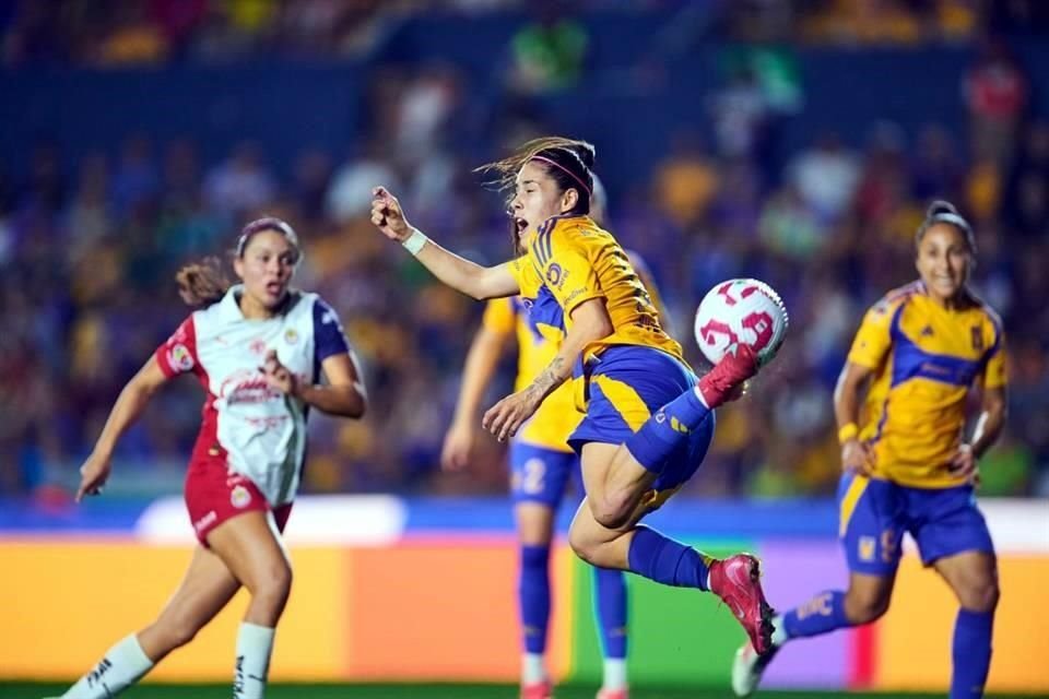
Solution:
[[[533,322],[563,329],[546,368],[490,408],[482,425],[508,439],[574,379],[585,414],[568,443],[580,455],[587,493],[568,533],[576,554],[598,567],[714,592],[764,652],[771,609],[757,559],[718,560],[639,523],[695,473],[714,434],[714,410],[741,394],[757,356],[741,343],[697,380],[623,248],[588,215],[593,155],[588,143],[546,138],[490,166],[512,189],[510,215],[526,250],[497,266],[435,244],[382,187],[374,191],[372,221],[452,288],[478,299],[519,294]]]

